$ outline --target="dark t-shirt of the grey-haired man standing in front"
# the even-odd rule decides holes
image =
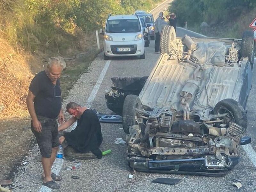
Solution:
[[[29,90],[36,96],[34,106],[36,115],[56,118],[61,108],[60,80],[52,83],[45,71],[36,74],[30,83]]]

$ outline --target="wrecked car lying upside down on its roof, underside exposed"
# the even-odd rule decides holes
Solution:
[[[237,146],[251,142],[253,38],[176,38],[165,26],[148,77],[112,77],[105,98],[123,116],[132,169],[222,176],[238,163]]]

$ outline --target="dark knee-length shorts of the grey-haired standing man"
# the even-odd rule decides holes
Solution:
[[[42,126],[42,132],[36,132],[32,121],[31,130],[36,136],[36,142],[40,148],[42,157],[50,158],[52,155],[52,148],[58,147],[59,137],[58,137],[58,124],[56,119],[50,119],[47,117],[37,116],[38,121],[40,121]]]

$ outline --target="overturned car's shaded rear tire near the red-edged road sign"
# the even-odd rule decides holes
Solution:
[[[241,57],[248,57],[253,68],[253,49],[254,49],[254,33],[252,31],[244,31],[242,37],[242,48],[241,48]]]

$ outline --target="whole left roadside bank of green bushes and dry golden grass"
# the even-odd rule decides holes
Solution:
[[[42,60],[92,52],[95,29],[104,26],[109,13],[149,11],[161,1],[0,0],[0,119],[27,115],[28,85]],[[77,71],[70,79],[83,73]]]

